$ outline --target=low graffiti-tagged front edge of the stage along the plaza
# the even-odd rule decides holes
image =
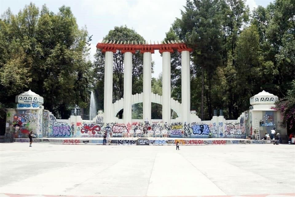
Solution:
[[[225,145],[225,144],[270,144],[277,140],[195,140],[195,139],[112,139],[107,142],[111,145]],[[23,142],[29,143],[26,138],[10,138],[6,142]],[[33,139],[34,143],[51,143],[51,144],[103,144],[102,139]]]

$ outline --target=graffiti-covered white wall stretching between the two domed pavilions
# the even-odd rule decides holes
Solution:
[[[208,122],[208,121],[206,121]],[[133,135],[140,130],[140,137],[162,137],[162,131],[167,131],[167,137],[173,138],[246,138],[244,118],[236,122],[218,123],[163,123],[162,121],[133,122],[133,123],[104,123],[103,116],[96,116],[95,121],[82,120],[81,122],[71,122],[69,120],[58,120],[53,115],[49,115],[49,135],[48,137],[103,137],[109,133],[111,137],[123,137]],[[133,132],[130,132],[133,131]],[[132,133],[132,134],[131,134]]]

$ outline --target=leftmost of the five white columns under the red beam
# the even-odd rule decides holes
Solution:
[[[104,123],[112,121],[113,103],[113,52],[104,55]]]

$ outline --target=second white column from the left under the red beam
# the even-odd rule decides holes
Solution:
[[[131,123],[132,119],[132,53],[124,53],[124,123]]]

